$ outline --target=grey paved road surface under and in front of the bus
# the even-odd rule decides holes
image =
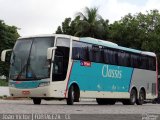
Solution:
[[[86,118],[93,120],[142,120],[143,116],[148,115],[156,118],[154,120],[160,120],[160,104],[144,104],[142,106],[122,105],[121,103],[117,103],[116,105],[97,105],[95,101],[83,100],[69,106],[66,105],[65,101],[42,101],[41,105],[33,105],[32,100],[0,100],[0,113],[32,115],[62,114],[62,118],[65,117],[64,114],[67,114],[71,120],[75,118],[78,120],[85,120]],[[157,114],[159,115],[156,116]]]

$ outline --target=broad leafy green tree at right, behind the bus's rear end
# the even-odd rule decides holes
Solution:
[[[110,39],[119,45],[159,51],[160,14],[157,10],[151,10],[147,14],[128,14],[111,24],[110,28]]]

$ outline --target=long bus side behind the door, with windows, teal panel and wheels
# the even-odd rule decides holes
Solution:
[[[84,40],[73,41],[72,47],[71,98],[96,98],[98,104],[121,101],[124,105],[142,105],[157,97],[154,53]]]

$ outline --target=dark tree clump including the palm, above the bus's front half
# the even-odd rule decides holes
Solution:
[[[84,12],[76,14],[74,20],[65,18],[56,33],[106,40],[109,36],[109,20],[104,20],[97,8],[86,7]]]

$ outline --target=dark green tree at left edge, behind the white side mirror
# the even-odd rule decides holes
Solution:
[[[4,49],[13,48],[15,41],[19,37],[17,27],[8,26],[0,20],[0,53]],[[9,64],[0,61],[0,76],[8,76]]]

